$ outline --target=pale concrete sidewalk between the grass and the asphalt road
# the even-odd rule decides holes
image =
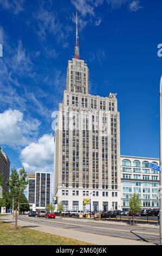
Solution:
[[[0,220],[4,220],[5,222],[11,222],[12,216],[1,217]],[[80,241],[94,243],[95,245],[153,245],[152,243],[147,243],[143,241],[123,239],[121,237],[98,235],[77,230],[50,227],[22,220],[18,220],[18,225],[20,225],[21,227],[28,227],[34,230],[43,231],[44,233],[61,235],[64,237],[69,237]]]

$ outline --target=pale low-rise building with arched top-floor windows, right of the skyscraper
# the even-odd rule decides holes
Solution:
[[[149,167],[159,159],[121,156],[121,208],[129,209],[133,193],[139,194],[142,208],[159,208],[159,173]]]

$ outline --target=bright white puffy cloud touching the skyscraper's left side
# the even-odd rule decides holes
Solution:
[[[37,142],[30,143],[21,151],[21,161],[27,172],[53,171],[54,137],[44,134]]]

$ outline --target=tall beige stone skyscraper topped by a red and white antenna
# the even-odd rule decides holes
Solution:
[[[67,88],[55,131],[54,194],[64,210],[120,209],[120,115],[116,94],[89,94],[89,69],[79,58],[68,61]]]

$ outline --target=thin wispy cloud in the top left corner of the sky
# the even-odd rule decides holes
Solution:
[[[24,10],[24,0],[0,0],[0,4],[5,10],[10,10],[14,14],[19,14]]]

